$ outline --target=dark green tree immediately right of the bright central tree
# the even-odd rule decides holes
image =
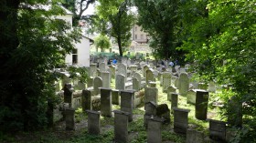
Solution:
[[[155,58],[183,59],[184,52],[176,50],[181,41],[177,35],[180,31],[178,0],[134,0],[138,8],[138,25],[150,36],[150,46]]]

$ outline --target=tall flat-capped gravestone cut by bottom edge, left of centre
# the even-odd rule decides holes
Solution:
[[[128,112],[114,110],[114,140],[128,143]]]

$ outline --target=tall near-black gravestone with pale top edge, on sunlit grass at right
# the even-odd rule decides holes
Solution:
[[[197,90],[196,118],[206,120],[208,117],[208,91]]]

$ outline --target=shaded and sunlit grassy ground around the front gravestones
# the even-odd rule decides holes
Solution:
[[[114,80],[112,80],[112,87],[114,87]],[[156,82],[158,88],[158,103],[167,104],[171,108],[171,102],[167,100],[167,94],[163,93],[160,83]],[[144,89],[141,90],[142,93]],[[208,105],[208,118],[220,119],[219,107],[212,107],[211,104],[216,94],[210,93]],[[178,107],[189,109],[188,113],[188,127],[196,129],[204,134],[204,138],[208,138],[208,121],[198,120],[195,117],[195,106],[187,104],[187,97],[178,97]],[[120,106],[113,105],[112,110],[120,109]],[[1,135],[0,142],[35,142],[35,143],[112,143],[114,138],[114,118],[101,117],[101,135],[92,136],[88,134],[88,117],[86,113],[82,112],[81,108],[75,111],[75,130],[67,131],[65,129],[65,121],[60,120],[54,124],[53,128],[44,128],[35,132],[19,132],[13,135]],[[171,114],[171,123],[162,126],[162,141],[164,143],[184,143],[186,136],[174,132],[174,116]],[[146,128],[144,128],[144,103],[136,108],[133,108],[133,121],[128,125],[129,142],[144,143],[146,142]],[[208,140],[208,139],[206,139]],[[209,140],[207,141],[209,142]]]

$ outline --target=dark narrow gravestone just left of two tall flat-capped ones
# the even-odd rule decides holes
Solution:
[[[81,95],[81,108],[82,111],[85,112],[86,110],[91,110],[91,97],[93,96],[93,90],[92,89],[85,89],[82,90]]]

